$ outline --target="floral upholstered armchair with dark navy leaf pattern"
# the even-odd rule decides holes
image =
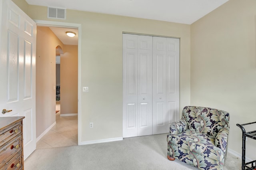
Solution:
[[[167,158],[177,158],[201,170],[223,170],[228,132],[228,112],[186,106],[182,119],[170,125]]]

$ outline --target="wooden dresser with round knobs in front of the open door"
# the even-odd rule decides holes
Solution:
[[[24,170],[22,119],[0,117],[0,170]]]

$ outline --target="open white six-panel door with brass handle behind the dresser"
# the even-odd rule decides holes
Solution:
[[[25,116],[25,160],[36,149],[36,24],[11,0],[0,4],[0,110],[12,110],[0,117]]]

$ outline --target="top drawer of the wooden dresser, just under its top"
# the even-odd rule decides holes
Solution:
[[[11,138],[15,137],[16,135],[20,134],[21,132],[21,122],[16,123],[10,127],[5,128],[0,132],[0,147],[8,142]]]

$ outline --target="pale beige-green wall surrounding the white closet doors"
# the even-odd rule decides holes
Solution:
[[[49,20],[47,7],[29,5],[27,14]],[[81,142],[122,137],[122,32],[180,38],[180,108],[190,104],[190,25],[76,10],[52,21],[82,25],[80,78],[89,92],[79,89]]]

